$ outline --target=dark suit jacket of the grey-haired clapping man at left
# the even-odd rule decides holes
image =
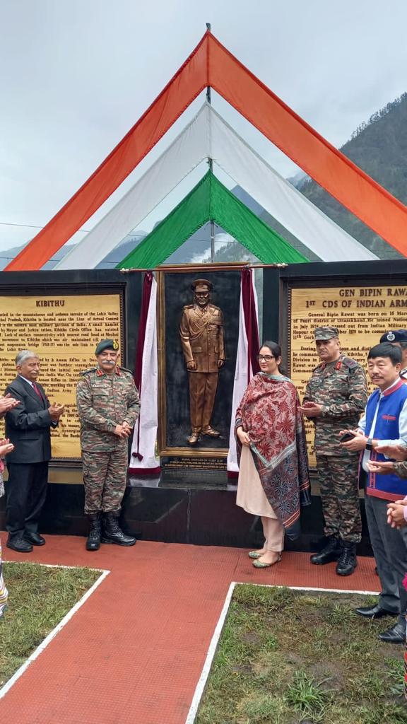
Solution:
[[[25,379],[18,376],[10,382],[7,392],[20,400],[13,410],[6,413],[6,437],[9,437],[15,449],[7,455],[8,463],[43,463],[51,460],[50,428],[57,423],[51,421],[49,400],[46,393],[37,384],[42,399]]]

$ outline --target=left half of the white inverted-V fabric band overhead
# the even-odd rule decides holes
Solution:
[[[202,106],[171,146],[54,269],[94,269],[208,157],[209,107]]]

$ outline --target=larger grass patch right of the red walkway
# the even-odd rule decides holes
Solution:
[[[196,724],[407,724],[394,619],[353,613],[375,600],[236,586]]]

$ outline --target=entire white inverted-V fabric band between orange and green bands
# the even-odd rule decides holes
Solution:
[[[204,104],[196,117],[104,219],[55,269],[93,269],[204,158],[211,158],[323,261],[376,259]]]

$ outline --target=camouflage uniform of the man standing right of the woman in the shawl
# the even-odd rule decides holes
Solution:
[[[339,432],[358,426],[367,397],[364,370],[341,354],[334,362],[322,362],[314,369],[303,399],[322,405],[322,415],[313,421],[324,534],[340,536],[349,543],[361,539],[358,453],[341,447]]]

